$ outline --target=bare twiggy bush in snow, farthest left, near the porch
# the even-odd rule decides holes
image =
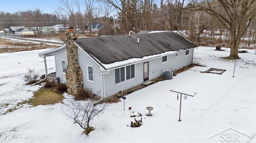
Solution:
[[[35,69],[28,68],[28,72],[24,75],[23,79],[25,82],[27,82],[27,84],[34,84],[38,82],[39,77],[40,75],[38,72],[35,72]]]

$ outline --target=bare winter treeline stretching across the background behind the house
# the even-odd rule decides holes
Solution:
[[[207,4],[215,6],[214,10],[228,19],[225,8],[220,5],[221,2],[227,1],[234,0],[59,0],[51,14],[43,13],[39,8],[14,14],[0,12],[0,24],[4,28],[64,24],[77,27],[79,32],[91,32],[90,25],[95,27],[96,24],[101,24],[102,35],[115,35],[115,19],[116,35],[127,34],[129,31],[138,33],[141,30],[183,30],[188,39],[198,45],[228,44],[228,24],[225,25],[225,21],[216,18],[216,15],[209,11],[199,9],[202,5],[207,7]],[[256,7],[255,0],[250,2],[252,1],[252,8],[248,9],[248,14]],[[238,11],[239,8],[242,7],[237,7]],[[242,24],[246,29],[242,40],[244,39],[248,45],[255,44],[255,12],[250,16],[250,21],[246,22],[248,25]]]

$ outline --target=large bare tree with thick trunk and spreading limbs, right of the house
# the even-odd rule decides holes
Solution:
[[[228,59],[239,59],[241,37],[256,16],[256,0],[201,0],[192,6],[194,10],[215,16],[229,30],[231,40]]]

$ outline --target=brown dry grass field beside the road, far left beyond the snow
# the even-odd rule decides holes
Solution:
[[[16,41],[0,38],[0,53],[12,53],[19,51],[32,51],[38,49],[57,48],[58,45],[49,45],[46,43],[33,43],[29,41]]]

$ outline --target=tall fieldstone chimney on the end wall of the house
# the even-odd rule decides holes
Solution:
[[[66,32],[65,35],[68,55],[68,66],[66,68],[67,92],[76,96],[77,91],[83,88],[83,74],[78,64],[77,47],[74,44],[77,34],[75,32]]]

